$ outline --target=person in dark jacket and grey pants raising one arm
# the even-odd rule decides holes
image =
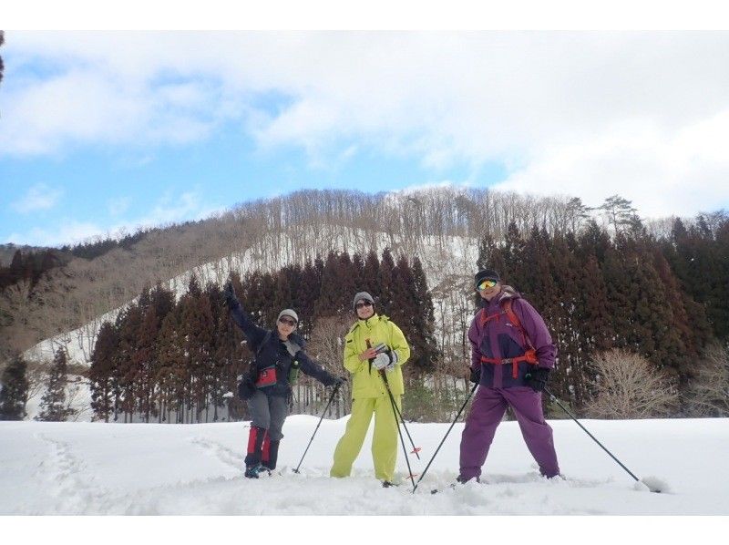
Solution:
[[[276,328],[266,330],[253,324],[235,296],[230,281],[225,284],[223,293],[233,320],[245,334],[255,355],[252,369],[243,377],[238,393],[248,402],[252,416],[245,476],[258,478],[263,471],[270,472],[276,468],[283,421],[288,416],[292,371],[301,369],[324,386],[340,386],[344,379],[327,373],[303,351],[303,338],[294,333],[299,316],[293,310],[282,310],[276,320]]]

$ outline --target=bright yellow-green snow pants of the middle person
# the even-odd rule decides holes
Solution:
[[[402,396],[395,397],[397,408],[402,410]],[[353,399],[352,416],[347,422],[344,436],[334,449],[334,465],[331,477],[349,477],[352,464],[362,450],[364,436],[375,414],[375,433],[372,437],[372,459],[375,463],[375,478],[392,482],[397,461],[397,420],[390,402],[390,396]]]

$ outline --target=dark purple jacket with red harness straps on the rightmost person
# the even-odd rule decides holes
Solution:
[[[511,286],[502,286],[501,293],[494,297],[489,303],[483,300],[484,307],[474,316],[471,326],[468,328],[468,340],[471,342],[471,367],[481,367],[480,386],[493,388],[510,388],[513,386],[527,386],[524,375],[534,365],[527,362],[519,362],[519,375],[512,376],[512,366],[494,365],[481,363],[481,356],[488,358],[504,359],[524,355],[529,345],[525,346],[519,328],[511,324],[508,315],[504,312],[503,303],[511,299],[511,310],[517,314],[521,326],[537,351],[539,367],[554,368],[554,358],[557,355],[557,347],[552,344],[552,337],[547,329],[547,324],[539,313]],[[486,313],[483,314],[482,313]],[[485,316],[499,314],[495,318],[483,324]]]

